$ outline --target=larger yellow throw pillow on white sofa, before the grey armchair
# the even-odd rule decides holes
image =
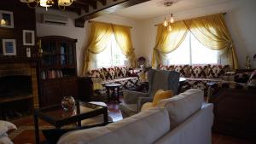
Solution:
[[[152,106],[153,107],[156,107],[157,104],[163,100],[163,99],[168,99],[168,98],[171,98],[173,96],[173,92],[172,90],[166,90],[164,91],[163,89],[159,89],[155,92],[155,95],[154,95],[154,99],[153,99],[153,102],[152,102]]]

